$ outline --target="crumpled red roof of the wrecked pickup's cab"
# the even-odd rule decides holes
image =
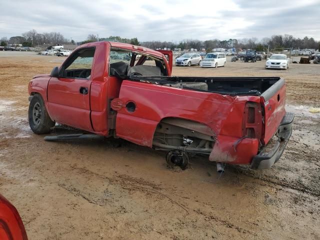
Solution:
[[[154,56],[158,56],[161,57],[163,56],[163,54],[159,51],[156,50],[152,50],[150,48],[144,47],[144,46],[136,46],[136,45],[132,45],[132,44],[128,44],[128,43],[122,43],[122,42],[115,42],[115,41],[96,41],[96,42],[89,42],[89,43],[85,43],[82,44],[78,47],[83,47],[83,46],[96,46],[98,44],[110,44],[111,47],[118,47],[118,48],[123,48],[123,49],[127,49],[127,50],[134,50],[134,51],[139,51],[141,53],[148,53]],[[77,48],[78,48],[77,47]]]

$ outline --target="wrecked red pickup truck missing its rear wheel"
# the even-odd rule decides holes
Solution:
[[[188,153],[267,168],[291,135],[280,77],[171,76],[172,52],[119,42],[78,46],[51,74],[28,85],[29,125],[55,122],[168,151],[185,168]]]

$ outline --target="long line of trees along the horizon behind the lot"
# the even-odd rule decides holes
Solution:
[[[109,36],[99,37],[95,34],[88,34],[87,39],[80,42],[80,44],[94,41],[120,41],[124,43],[130,43],[134,45],[141,45],[151,49],[156,48],[181,48],[190,49],[195,48],[198,50],[205,49],[205,51],[211,51],[213,48],[236,48],[239,49],[256,49],[266,50],[269,49],[280,49],[280,48],[309,48],[309,49],[320,49],[320,41],[316,41],[313,37],[296,38],[290,34],[284,35],[272,35],[271,37],[263,37],[258,39],[256,37],[242,38],[242,39],[211,39],[211,40],[197,40],[197,39],[185,39],[179,42],[170,41],[143,41],[139,42],[137,37],[133,38],[122,38],[120,36]],[[52,45],[55,43],[74,43],[73,40],[68,40],[60,32],[42,32],[38,33],[32,29],[21,34],[21,36],[12,36],[10,38],[2,37],[0,39],[1,45],[11,44],[22,44],[23,46],[36,46],[42,44]]]

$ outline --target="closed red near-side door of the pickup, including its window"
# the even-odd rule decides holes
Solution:
[[[50,117],[56,122],[92,130],[90,120],[90,86],[94,47],[79,48],[51,77],[47,87]]]

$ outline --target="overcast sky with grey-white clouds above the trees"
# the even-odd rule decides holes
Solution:
[[[0,0],[0,37],[59,31],[139,41],[250,38],[320,40],[320,0]]]

